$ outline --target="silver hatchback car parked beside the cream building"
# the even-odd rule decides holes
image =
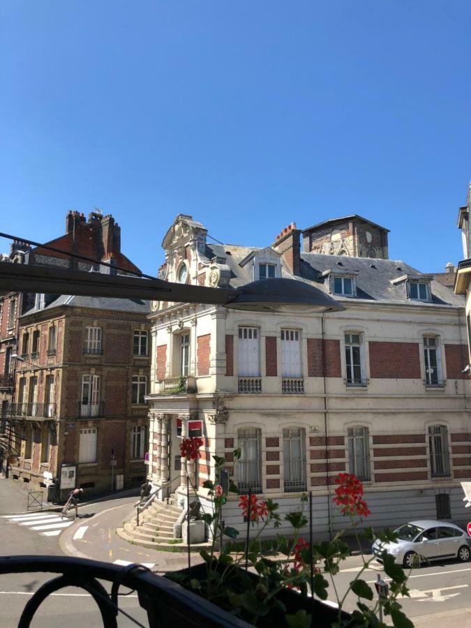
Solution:
[[[419,560],[470,560],[471,537],[454,523],[410,521],[396,528],[394,532],[398,535],[397,543],[381,543],[379,539],[373,543],[372,550],[377,561],[382,562],[381,554],[384,550],[404,567],[414,567],[419,564]]]

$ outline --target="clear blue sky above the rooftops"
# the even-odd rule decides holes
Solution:
[[[0,231],[102,207],[154,274],[179,213],[232,244],[361,214],[461,259],[469,0],[3,0]],[[8,251],[0,241],[0,252]]]

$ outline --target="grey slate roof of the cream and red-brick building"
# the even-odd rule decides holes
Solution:
[[[239,266],[239,262],[252,251],[260,251],[260,247],[237,246],[234,244],[220,245],[207,244],[207,257],[225,257],[226,264],[231,269],[230,286],[237,288],[253,281],[252,266],[247,264],[244,268]],[[229,253],[229,254],[228,254]],[[341,264],[341,265],[340,265]],[[282,275],[295,278],[299,281],[311,283],[320,290],[329,293],[329,282],[322,273],[329,269],[339,271],[352,271],[356,276],[357,296],[337,297],[334,299],[343,302],[376,301],[384,304],[409,304],[410,306],[434,305],[463,307],[464,299],[458,294],[454,294],[448,287],[433,279],[431,281],[432,300],[430,303],[424,301],[412,301],[405,294],[403,284],[393,285],[391,280],[404,275],[427,276],[413,268],[402,260],[382,260],[373,257],[349,257],[347,255],[319,255],[317,253],[301,253],[301,276],[292,276],[282,262]]]

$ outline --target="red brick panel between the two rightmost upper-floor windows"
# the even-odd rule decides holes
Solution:
[[[421,379],[418,343],[371,341],[370,376],[394,379]]]

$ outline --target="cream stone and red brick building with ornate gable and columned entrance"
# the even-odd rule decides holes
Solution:
[[[417,518],[466,521],[460,481],[471,474],[470,387],[464,300],[409,264],[388,259],[387,230],[353,215],[302,231],[292,223],[271,246],[209,244],[180,215],[163,240],[169,281],[238,287],[285,276],[345,306],[336,313],[249,313],[154,302],[150,404],[151,479],[185,499],[179,439],[202,435],[188,463],[200,488],[211,456],[231,461],[243,490],[281,511],[313,491],[315,532],[343,525],[331,513],[332,478],[356,473],[369,525]],[[181,474],[181,477],[179,477]],[[235,498],[227,525],[243,525]]]

